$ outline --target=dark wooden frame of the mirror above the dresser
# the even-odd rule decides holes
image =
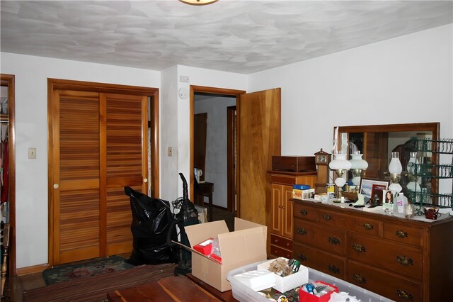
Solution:
[[[334,128],[335,133],[335,128]],[[432,133],[432,140],[439,140],[440,123],[406,123],[406,124],[386,124],[386,125],[351,125],[351,126],[338,126],[338,139],[341,144],[341,134],[343,133],[389,133],[389,132],[416,132],[416,131],[430,131]],[[348,136],[349,137],[349,136]],[[349,155],[349,154],[348,154]],[[367,160],[364,155],[364,160]],[[439,164],[439,155],[432,153],[432,164]],[[439,191],[439,180],[431,179],[431,190],[433,193]]]

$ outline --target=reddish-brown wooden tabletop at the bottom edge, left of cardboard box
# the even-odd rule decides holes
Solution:
[[[110,302],[225,301],[220,300],[186,276],[171,276],[129,289],[109,291],[107,298]]]

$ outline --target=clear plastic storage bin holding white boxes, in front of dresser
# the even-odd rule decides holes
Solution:
[[[233,276],[236,274],[242,274],[244,272],[256,270],[258,264],[266,261],[268,260],[248,264],[244,267],[233,269],[232,271],[228,272],[228,274],[226,274],[226,280],[230,282],[231,290],[233,291],[233,297],[236,300],[239,300],[241,302],[253,302],[253,301],[269,302],[267,298],[261,296],[257,291],[253,291],[253,289],[247,287],[245,284],[241,284],[241,282],[233,278]],[[309,281],[316,280],[321,280],[328,284],[335,285],[338,287],[338,290],[340,292],[345,291],[346,293],[349,293],[350,296],[355,296],[362,302],[391,301],[389,298],[379,296],[377,293],[367,291],[366,289],[362,289],[359,286],[355,286],[354,284],[350,284],[334,276],[316,271],[316,269],[309,268]]]

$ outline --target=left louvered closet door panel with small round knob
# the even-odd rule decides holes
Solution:
[[[54,100],[50,223],[54,264],[61,264],[100,255],[99,96],[55,91]]]

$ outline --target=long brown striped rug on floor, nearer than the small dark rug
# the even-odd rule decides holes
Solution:
[[[23,292],[27,302],[101,302],[108,291],[127,289],[173,276],[176,264],[142,265],[121,272],[88,276]]]

